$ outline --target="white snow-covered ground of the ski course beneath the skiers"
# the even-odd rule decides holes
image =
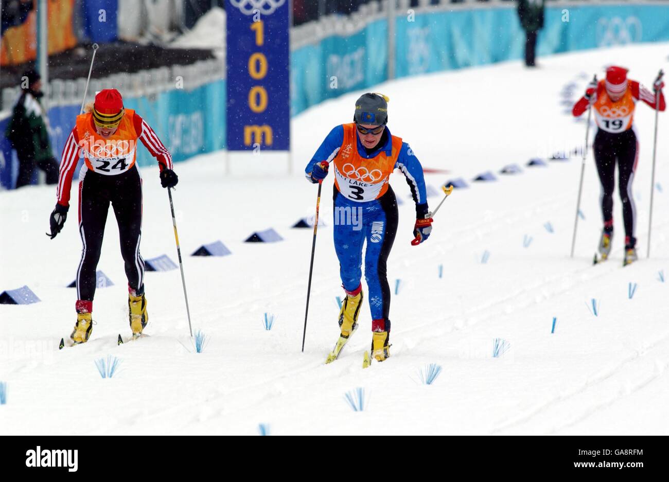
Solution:
[[[324,183],[311,306],[300,352],[312,241],[290,229],[312,215],[316,188],[302,168],[335,124],[349,122],[349,94],[293,120],[292,176],[223,175],[223,154],[177,164],[179,235],[188,254],[221,239],[227,257],[185,256],[193,328],[209,343],[193,353],[179,270],[147,273],[147,337],[116,346],[129,334],[127,290],[113,215],[98,269],[114,285],[98,289],[90,342],[58,350],[74,325],[74,279],[80,257],[76,208],[53,241],[44,232],[55,190],[31,187],[0,197],[0,288],[28,285],[41,302],[0,306],[0,406],[3,434],[254,434],[258,424],[284,434],[668,434],[669,418],[669,143],[660,115],[652,258],[646,259],[654,114],[639,105],[641,155],[634,183],[642,259],[622,267],[622,213],[610,262],[591,265],[601,218],[591,156],[585,170],[576,255],[569,258],[580,158],[526,168],[527,160],[584,141],[585,122],[565,115],[609,63],[630,68],[646,85],[667,70],[669,44],[636,45],[389,82],[389,126],[409,142],[436,189],[448,178],[470,180],[518,163],[524,172],[456,189],[436,216],[429,241],[409,241],[414,211],[403,176],[393,189],[405,204],[389,258],[389,281],[401,279],[391,303],[391,358],[361,368],[371,342],[367,303],[361,328],[341,358],[324,365],[339,332],[339,265],[332,246],[332,176]],[[176,260],[167,193],[157,168],[145,180],[142,255]],[[73,189],[74,202],[76,193]],[[439,198],[431,200],[436,206]],[[554,232],[545,229],[551,223]],[[274,227],[284,241],[243,243]],[[523,247],[524,236],[532,237]],[[484,251],[489,260],[481,263]],[[438,276],[443,265],[443,277]],[[638,283],[628,299],[628,283]],[[586,306],[599,301],[599,316]],[[265,312],[277,317],[264,330]],[[555,334],[551,334],[557,317]],[[510,350],[492,358],[494,338]],[[112,379],[97,358],[122,359]],[[442,366],[432,386],[419,368]],[[353,412],[344,394],[365,388],[367,407]]]

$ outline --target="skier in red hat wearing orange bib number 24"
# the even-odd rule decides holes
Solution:
[[[160,166],[161,185],[177,185],[172,156],[153,129],[132,109],[123,108],[121,94],[105,89],[77,116],[60,162],[56,209],[51,213],[50,237],[65,223],[70,205],[72,176],[80,155],[85,164],[79,176],[79,233],[82,258],[77,270],[77,322],[70,335],[75,344],[88,341],[92,330],[96,268],[102,249],[104,225],[111,203],[118,223],[121,255],[128,277],[128,317],[134,337],[149,321],[144,292],[144,260],[139,253],[142,237],[142,178],[136,166],[137,140]]]

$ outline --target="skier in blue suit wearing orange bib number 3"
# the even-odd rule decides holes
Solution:
[[[330,164],[334,168],[334,248],[346,298],[339,314],[340,341],[328,362],[337,358],[357,328],[363,302],[361,266],[365,240],[365,279],[373,318],[372,357],[383,361],[390,355],[386,261],[395,240],[398,213],[388,180],[395,168],[406,176],[416,205],[412,244],[422,243],[432,231],[423,168],[409,144],[387,128],[387,101],[382,94],[361,96],[355,104],[354,122],[332,129],[305,169],[308,180],[318,183],[327,175]]]

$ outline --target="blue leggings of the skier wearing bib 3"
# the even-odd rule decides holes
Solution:
[[[349,201],[334,188],[334,249],[344,289],[360,285],[365,249],[365,280],[369,288],[369,308],[375,331],[390,331],[390,287],[386,261],[397,233],[397,201],[393,190],[367,203]]]

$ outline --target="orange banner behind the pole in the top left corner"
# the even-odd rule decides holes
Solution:
[[[47,0],[49,54],[62,52],[77,44],[72,31],[75,0]],[[34,4],[37,0],[33,1]],[[9,27],[2,36],[0,66],[13,66],[37,57],[37,13],[33,10],[24,23]]]

